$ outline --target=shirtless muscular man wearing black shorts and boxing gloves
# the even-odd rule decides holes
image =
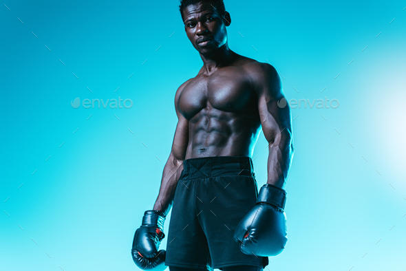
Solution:
[[[275,68],[231,51],[222,0],[182,0],[184,30],[203,66],[175,94],[178,116],[158,198],[133,238],[142,270],[257,271],[284,250],[284,186],[292,121]],[[258,193],[251,159],[260,131],[268,180]],[[172,208],[167,250],[159,250]]]

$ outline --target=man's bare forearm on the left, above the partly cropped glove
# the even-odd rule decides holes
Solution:
[[[165,215],[169,213],[169,210],[171,210],[173,204],[176,185],[178,184],[182,170],[182,161],[176,160],[173,155],[169,155],[167,164],[164,166],[160,191],[158,193],[156,202],[153,205],[153,210],[160,210]]]

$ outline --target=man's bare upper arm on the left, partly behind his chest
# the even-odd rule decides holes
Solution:
[[[181,162],[186,156],[186,149],[189,143],[189,121],[184,118],[179,111],[179,98],[184,86],[189,82],[183,83],[175,94],[175,111],[178,116],[178,124],[176,125],[175,135],[173,136],[171,155],[176,162]]]

